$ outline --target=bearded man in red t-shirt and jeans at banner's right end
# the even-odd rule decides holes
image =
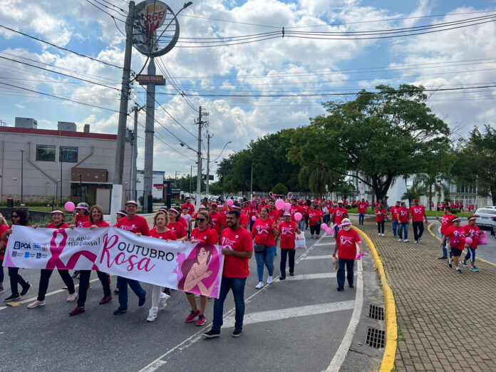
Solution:
[[[220,336],[224,301],[229,290],[232,290],[234,306],[236,308],[232,336],[239,337],[242,334],[244,318],[244,285],[249,276],[248,262],[253,256],[253,242],[252,235],[247,229],[242,229],[239,225],[238,210],[230,210],[227,213],[227,229],[222,230],[220,244],[224,247],[222,248],[224,269],[222,270],[219,298],[215,299],[214,303],[214,321],[212,329],[203,334],[207,339]]]

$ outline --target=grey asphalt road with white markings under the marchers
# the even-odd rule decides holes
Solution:
[[[314,244],[315,243],[315,244]],[[325,371],[338,351],[353,314],[357,289],[336,291],[335,272],[329,255],[334,238],[307,241],[306,253],[297,252],[296,276],[275,281],[257,290],[255,260],[250,260],[247,280],[244,333],[233,339],[229,294],[224,306],[225,322],[220,339],[200,336],[210,326],[186,324],[189,305],[182,292],[174,291],[167,308],[153,323],[145,321],[150,307],[138,307],[130,292],[127,314],[114,316],[118,302],[98,305],[103,296],[93,273],[86,313],[68,316],[76,306],[67,303],[67,291],[56,272],[51,277],[46,306],[27,309],[38,290],[39,272],[21,269],[33,284],[21,306],[0,304],[1,370],[15,371]],[[279,277],[279,255],[274,277]],[[371,259],[371,257],[366,257]],[[5,269],[6,272],[6,269]],[[267,272],[266,272],[267,276]],[[289,278],[289,277],[288,277]],[[8,277],[6,277],[8,280]],[[10,295],[8,282],[0,299]],[[113,281],[113,286],[115,280]],[[150,291],[150,286],[144,284]],[[207,308],[207,324],[212,320]],[[347,348],[346,348],[347,351]],[[216,354],[219,354],[217,356]]]

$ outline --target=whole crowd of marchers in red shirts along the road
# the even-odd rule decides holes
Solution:
[[[343,291],[346,279],[348,286],[353,288],[353,264],[363,253],[361,238],[356,230],[351,229],[351,222],[348,218],[347,202],[339,200],[331,202],[328,200],[296,200],[296,198],[282,199],[259,199],[255,197],[249,202],[234,202],[227,200],[224,205],[211,204],[204,200],[198,210],[187,198],[185,204],[180,209],[174,207],[160,209],[153,217],[153,228],[150,229],[147,220],[138,215],[138,203],[129,200],[125,203],[125,210],[121,210],[117,215],[117,223],[114,225],[120,229],[125,229],[135,234],[153,237],[163,240],[182,240],[182,242],[203,242],[205,244],[219,244],[222,246],[224,255],[224,268],[222,281],[219,288],[219,299],[214,303],[214,319],[212,329],[205,332],[207,338],[220,335],[222,326],[223,305],[229,291],[234,296],[236,309],[235,326],[232,336],[242,334],[244,317],[244,287],[246,279],[249,277],[249,259],[254,253],[257,262],[257,289],[264,286],[264,270],[267,267],[267,284],[274,281],[274,259],[277,256],[277,244],[280,247],[280,276],[279,280],[286,279],[286,263],[289,276],[294,276],[295,246],[297,236],[305,229],[310,229],[311,239],[319,239],[321,228],[326,228],[326,232],[334,234],[336,237],[336,247],[333,257],[337,262],[338,272],[336,274],[338,291]],[[357,202],[358,223],[363,224],[364,217],[369,207],[368,202],[361,200]],[[376,202],[376,222],[378,235],[385,236],[384,227],[388,215],[392,219],[393,235],[399,237],[400,242],[408,242],[408,226],[411,222],[415,243],[422,242],[424,222],[427,223],[425,208],[414,201],[412,207],[407,208],[404,202],[396,202],[390,209],[382,200]],[[349,208],[349,207],[348,207]],[[465,227],[460,227],[460,219],[451,214],[450,206],[443,206],[445,215],[438,220],[442,223],[441,248],[443,257],[447,259],[450,267],[455,264],[457,272],[461,272],[459,265],[467,267],[467,259],[470,259],[471,270],[477,272],[475,267],[475,249],[477,249],[480,231],[475,226],[475,217],[469,219]],[[4,217],[0,215],[0,264],[3,262],[6,244],[12,225],[29,226],[28,214],[24,209],[16,209],[12,212],[12,223],[7,224]],[[52,222],[47,228],[52,229],[74,229],[108,227],[108,223],[103,220],[103,210],[98,205],[88,208],[86,203],[79,203],[73,212],[71,221],[64,221],[64,213],[61,210],[51,212]],[[37,228],[37,226],[33,227]],[[334,231],[331,231],[334,229]],[[449,243],[450,252],[448,258]],[[357,255],[356,246],[359,254]],[[463,248],[467,247],[467,255],[462,262],[459,257]],[[210,262],[212,252],[208,249],[200,249],[195,257],[195,264],[186,269],[182,269],[183,276],[178,284],[178,289],[185,291],[188,303],[191,306],[190,314],[185,321],[195,322],[197,326],[202,326],[206,322],[205,311],[207,309],[208,297],[212,292],[212,287],[206,288],[202,279],[209,275],[207,263]],[[15,301],[21,296],[28,294],[31,284],[25,281],[19,274],[19,268],[9,267],[9,279],[11,295],[4,301]],[[38,286],[38,296],[36,301],[28,305],[29,309],[44,306],[46,291],[48,290],[49,279],[53,273],[52,269],[42,269]],[[68,270],[58,269],[58,274],[63,279],[68,289],[67,301],[76,301],[76,307],[70,311],[71,316],[76,316],[85,312],[85,303],[88,288],[90,285],[91,270],[81,270],[75,272],[71,277]],[[105,272],[96,272],[103,287],[103,297],[99,304],[108,304],[113,299],[111,291],[110,275]],[[79,277],[78,293],[73,278]],[[0,272],[0,293],[3,288],[4,273],[3,267]],[[19,286],[21,291],[19,291]],[[119,306],[115,309],[115,315],[124,314],[128,309],[128,286],[138,296],[138,306],[145,304],[146,292],[139,281],[125,277],[117,277],[117,285],[114,294],[118,295]],[[197,304],[198,295],[190,293],[195,287],[202,287],[200,304]],[[161,286],[153,286],[151,293],[151,307],[148,312],[147,321],[154,321],[157,318],[159,309],[163,309],[170,299],[170,289]]]

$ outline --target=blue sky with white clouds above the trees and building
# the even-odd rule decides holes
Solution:
[[[167,4],[179,11],[184,1]],[[2,26],[123,65],[128,1],[4,0],[2,5]],[[496,19],[491,14],[496,14],[494,0],[194,1],[178,16],[180,41],[156,58],[157,73],[164,71],[172,81],[157,87],[162,107],[155,109],[154,170],[174,175],[195,165],[195,153],[180,143],[197,147],[194,123],[200,105],[209,113],[212,160],[266,133],[306,125],[324,113],[326,100],[353,98],[336,93],[378,84],[463,88],[429,93],[435,113],[461,135],[474,125],[495,125],[496,89],[466,89],[496,84]],[[435,24],[444,26],[423,29]],[[444,31],[376,38],[412,27],[417,29],[405,33]],[[397,33],[388,31],[393,29]],[[58,121],[72,121],[78,130],[88,123],[91,131],[116,133],[120,68],[2,28],[0,57],[0,120],[7,125],[22,116],[38,120],[38,128],[56,129]],[[144,63],[145,57],[133,50],[132,70],[138,73]],[[146,93],[135,84],[131,98],[130,107],[143,105]],[[144,112],[138,121],[138,167],[143,167]]]

